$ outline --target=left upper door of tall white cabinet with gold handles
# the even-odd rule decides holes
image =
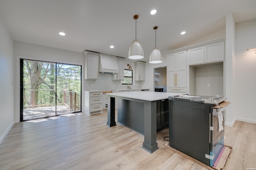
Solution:
[[[167,55],[167,87],[174,87],[175,82],[175,54]]]

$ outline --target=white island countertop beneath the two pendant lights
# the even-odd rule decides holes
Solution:
[[[169,96],[182,95],[184,93],[166,93],[166,92],[148,92],[148,91],[139,91],[139,92],[119,92],[119,93],[106,93],[111,96],[116,97],[125,97],[133,98],[146,101],[155,101],[167,99]]]

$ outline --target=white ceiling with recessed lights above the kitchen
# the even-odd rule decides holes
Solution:
[[[157,10],[154,16],[152,9]],[[166,53],[223,29],[227,13],[233,13],[236,23],[255,20],[256,0],[0,0],[1,18],[15,41],[125,58],[138,14],[137,39],[144,50],[140,61],[148,61],[154,48],[155,25],[156,46]]]

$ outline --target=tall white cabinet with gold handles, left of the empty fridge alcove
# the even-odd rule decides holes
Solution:
[[[167,88],[168,92],[186,92],[186,51],[167,55]]]

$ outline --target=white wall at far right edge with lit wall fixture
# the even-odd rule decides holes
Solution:
[[[256,20],[236,24],[236,120],[256,123]]]

